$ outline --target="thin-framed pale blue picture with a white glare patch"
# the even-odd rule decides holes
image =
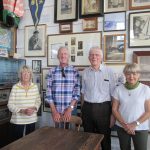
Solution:
[[[126,13],[106,13],[104,14],[104,31],[123,31],[126,29]]]

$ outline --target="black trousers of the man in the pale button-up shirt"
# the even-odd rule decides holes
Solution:
[[[82,107],[82,120],[85,132],[104,134],[102,150],[111,150],[110,129],[111,102],[88,103]]]

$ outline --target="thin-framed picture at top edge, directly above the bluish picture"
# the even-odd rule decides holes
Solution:
[[[117,12],[127,10],[127,0],[105,0],[104,12]]]

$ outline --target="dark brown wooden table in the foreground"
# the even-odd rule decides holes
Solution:
[[[1,150],[99,150],[102,134],[43,127]]]

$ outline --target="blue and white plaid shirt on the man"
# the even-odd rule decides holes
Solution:
[[[49,70],[46,101],[54,103],[57,111],[63,113],[72,100],[80,98],[80,76],[73,66],[64,67],[65,77],[61,70],[60,66]]]

